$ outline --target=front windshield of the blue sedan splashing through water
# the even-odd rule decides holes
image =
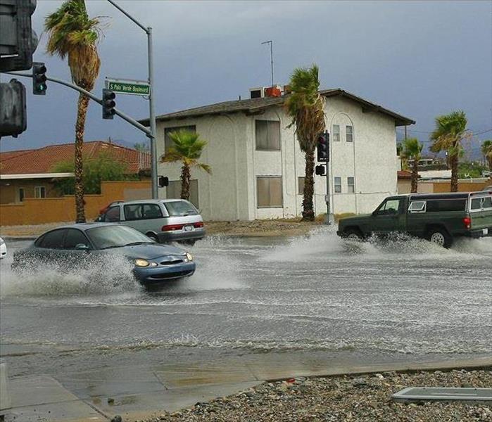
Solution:
[[[121,248],[153,243],[147,236],[128,226],[100,226],[86,231],[96,249]]]

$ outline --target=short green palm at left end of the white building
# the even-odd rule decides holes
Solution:
[[[191,167],[198,167],[205,170],[208,174],[212,169],[208,164],[198,162],[207,145],[206,141],[200,139],[200,135],[189,130],[179,130],[171,132],[170,138],[174,142],[165,155],[160,158],[160,162],[182,162],[181,167],[181,198],[189,200],[189,185],[191,179]]]

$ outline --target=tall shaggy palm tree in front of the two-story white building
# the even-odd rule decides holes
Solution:
[[[313,221],[313,194],[315,180],[315,148],[317,136],[324,132],[324,97],[320,95],[320,79],[317,65],[309,69],[296,68],[291,75],[289,87],[292,94],[286,98],[284,107],[291,117],[296,135],[305,155],[305,179],[303,195],[303,220]]]

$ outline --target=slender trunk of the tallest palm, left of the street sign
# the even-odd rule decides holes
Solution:
[[[84,210],[84,162],[82,148],[84,146],[85,118],[89,107],[89,97],[80,94],[77,104],[77,123],[75,124],[75,212],[77,223],[85,222]]]

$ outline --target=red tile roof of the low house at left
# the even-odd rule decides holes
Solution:
[[[74,151],[74,143],[63,143],[35,150],[0,153],[0,174],[52,173],[58,162],[73,160]],[[104,141],[84,142],[84,158],[94,158],[103,152],[110,154],[115,160],[125,162],[129,174],[137,174],[139,170],[150,168],[149,153]]]

